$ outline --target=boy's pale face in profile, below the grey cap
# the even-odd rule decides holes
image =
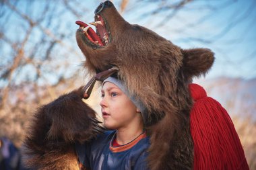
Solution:
[[[100,106],[106,128],[117,130],[128,128],[141,120],[139,110],[117,85],[106,82],[101,93]]]

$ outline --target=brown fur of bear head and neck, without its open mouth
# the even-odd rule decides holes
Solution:
[[[213,52],[206,48],[183,50],[147,28],[129,24],[114,6],[99,15],[110,32],[110,43],[95,46],[77,30],[85,67],[90,73],[118,67],[119,77],[147,106],[149,119],[162,118],[147,127],[152,170],[192,169],[189,112],[193,102],[188,85],[193,76],[205,75],[212,67]]]

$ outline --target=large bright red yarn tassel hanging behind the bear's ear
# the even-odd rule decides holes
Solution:
[[[207,97],[203,87],[191,84],[189,90],[195,101],[190,115],[193,169],[249,169],[243,146],[226,110],[218,101]]]

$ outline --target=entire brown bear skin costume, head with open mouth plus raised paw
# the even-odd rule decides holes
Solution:
[[[110,1],[95,11],[96,35],[83,22],[76,32],[92,75],[115,66],[131,94],[146,105],[150,169],[193,169],[189,83],[214,62],[206,48],[184,50],[155,32],[131,25]],[[77,89],[43,105],[34,115],[24,142],[25,161],[35,169],[79,169],[75,142],[86,142],[103,129]]]

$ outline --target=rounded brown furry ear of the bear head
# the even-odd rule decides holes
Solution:
[[[205,75],[214,63],[214,52],[207,48],[181,50],[183,71],[188,77]]]

